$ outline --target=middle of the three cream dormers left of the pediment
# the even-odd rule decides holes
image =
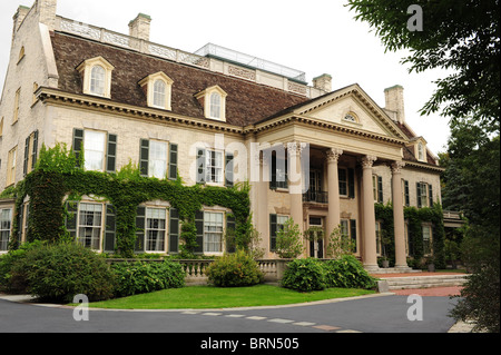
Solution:
[[[173,83],[174,80],[161,71],[139,81],[139,86],[145,91],[147,105],[163,110],[171,110]]]

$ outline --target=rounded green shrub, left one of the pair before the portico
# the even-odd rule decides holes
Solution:
[[[324,289],[326,279],[322,262],[306,258],[288,263],[282,279],[282,286],[301,292]]]

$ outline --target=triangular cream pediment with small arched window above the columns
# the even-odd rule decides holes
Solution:
[[[358,85],[312,100],[295,109],[294,114],[351,129],[405,139],[401,129]]]

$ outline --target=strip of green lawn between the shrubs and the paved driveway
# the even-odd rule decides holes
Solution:
[[[180,308],[230,308],[253,306],[289,305],[331,298],[343,298],[374,294],[374,290],[354,288],[327,288],[312,293],[272,286],[219,288],[189,286],[155,293],[91,303],[90,307],[115,309],[180,309]]]

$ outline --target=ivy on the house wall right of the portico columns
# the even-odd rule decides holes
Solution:
[[[391,262],[394,263],[395,255],[395,238],[394,238],[394,228],[393,228],[393,206],[391,203],[375,204],[375,217],[376,220],[382,221],[382,234],[387,237],[389,245],[387,255],[390,256]],[[444,238],[445,238],[445,229],[443,226],[443,210],[442,206],[438,203],[433,204],[433,207],[405,207],[404,208],[404,218],[407,223],[407,231],[409,231],[409,244],[410,244],[410,256],[412,257],[412,262],[415,266],[419,266],[424,255],[424,245],[423,245],[423,224],[432,225],[432,248],[433,256],[426,257],[426,259],[433,260],[435,267],[444,268],[445,267],[445,257],[444,257]]]

